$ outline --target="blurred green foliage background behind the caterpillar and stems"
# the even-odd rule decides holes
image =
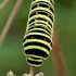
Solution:
[[[2,3],[3,0],[0,0]],[[16,3],[11,2],[0,11],[0,34]],[[0,76],[12,69],[15,75],[22,76],[28,73],[29,66],[23,53],[22,40],[26,28],[30,0],[24,0],[12,26],[0,48]],[[76,76],[76,0],[55,0],[55,22],[59,38],[62,47],[67,75]],[[52,55],[45,61],[43,65],[36,69],[36,73],[43,72],[45,76],[55,76]]]

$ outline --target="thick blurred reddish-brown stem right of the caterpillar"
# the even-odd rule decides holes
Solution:
[[[53,51],[52,51],[54,67],[56,72],[56,76],[66,76],[66,67],[64,63],[64,59],[62,55],[62,49],[59,41],[56,26],[54,25],[54,36],[53,36]]]

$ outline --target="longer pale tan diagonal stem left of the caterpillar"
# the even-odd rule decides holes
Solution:
[[[5,26],[4,26],[4,28],[3,28],[3,30],[2,30],[2,34],[1,34],[1,37],[0,37],[0,46],[2,45],[8,31],[10,29],[11,25],[12,25],[12,22],[13,22],[15,15],[16,15],[16,13],[17,13],[21,4],[22,4],[22,2],[23,2],[23,0],[17,0],[17,2],[15,4],[15,7],[14,7],[14,9],[13,9],[13,11],[12,11],[12,13],[11,13],[11,15],[10,15]]]

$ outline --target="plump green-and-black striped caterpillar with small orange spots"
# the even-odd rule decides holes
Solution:
[[[54,3],[52,0],[33,0],[23,38],[26,62],[40,66],[52,50]]]

